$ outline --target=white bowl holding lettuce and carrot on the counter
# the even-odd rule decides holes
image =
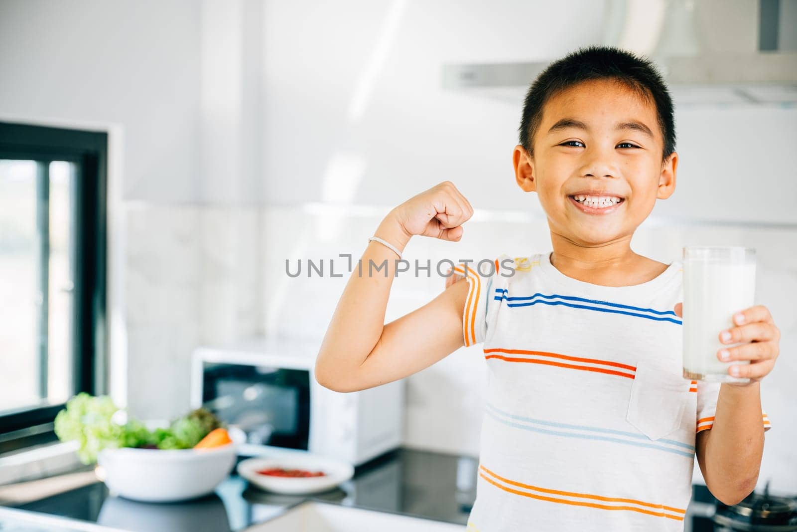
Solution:
[[[238,443],[210,449],[104,449],[98,476],[118,495],[145,502],[171,502],[207,495],[232,470]]]

